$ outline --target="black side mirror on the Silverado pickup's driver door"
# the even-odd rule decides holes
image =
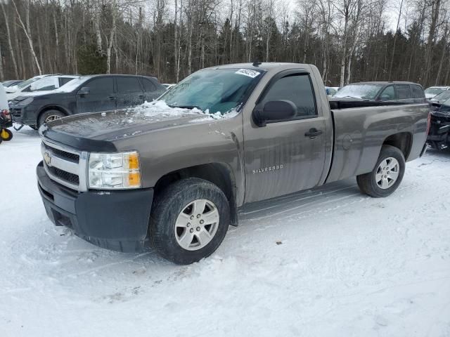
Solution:
[[[253,121],[257,126],[266,126],[267,122],[286,121],[292,119],[297,107],[290,100],[271,100],[264,104],[262,110],[253,110]]]

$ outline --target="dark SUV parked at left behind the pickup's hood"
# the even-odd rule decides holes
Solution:
[[[122,109],[150,102],[165,92],[154,77],[91,75],[73,79],[51,93],[27,93],[11,100],[13,120],[32,128],[82,112]]]

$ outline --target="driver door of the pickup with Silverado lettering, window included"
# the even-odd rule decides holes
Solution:
[[[316,105],[311,75],[281,72],[255,108],[274,100],[288,100],[297,111],[290,120],[245,130],[245,202],[306,190],[318,185],[323,174],[326,120]]]

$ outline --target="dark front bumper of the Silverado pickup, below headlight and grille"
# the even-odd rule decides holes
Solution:
[[[142,251],[146,245],[153,189],[75,192],[53,182],[42,162],[37,182],[44,207],[57,226],[114,251]]]

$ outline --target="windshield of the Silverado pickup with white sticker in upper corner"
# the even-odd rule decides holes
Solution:
[[[160,97],[171,107],[198,108],[204,112],[229,112],[246,98],[262,71],[250,69],[200,70]]]

